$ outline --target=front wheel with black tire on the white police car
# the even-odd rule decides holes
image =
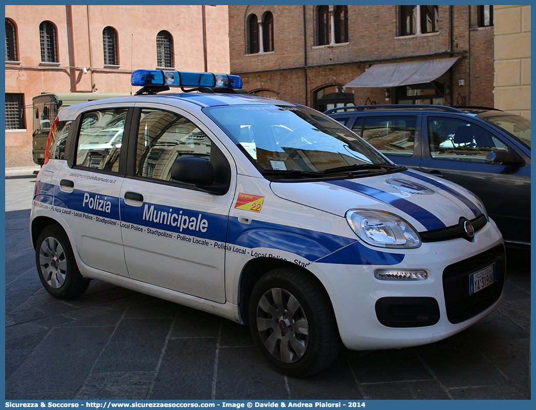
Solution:
[[[340,336],[329,298],[297,269],[273,269],[259,279],[251,292],[249,324],[260,352],[286,375],[314,375],[339,354]]]

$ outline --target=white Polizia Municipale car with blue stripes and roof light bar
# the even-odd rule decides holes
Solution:
[[[313,109],[236,93],[237,76],[137,70],[132,84],[51,129],[31,214],[51,295],[99,279],[249,323],[299,377],[341,341],[431,343],[501,303],[502,236],[464,188]]]

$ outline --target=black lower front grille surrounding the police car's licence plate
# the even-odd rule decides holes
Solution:
[[[497,264],[497,281],[470,295],[469,276],[493,263]],[[489,251],[472,258],[453,263],[443,270],[443,291],[446,316],[456,324],[471,319],[493,305],[504,286],[506,263],[504,245],[497,245]]]

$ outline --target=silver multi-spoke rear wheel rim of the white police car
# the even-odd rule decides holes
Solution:
[[[61,288],[67,276],[67,259],[62,245],[54,237],[48,237],[39,249],[39,265],[44,280],[53,289]]]

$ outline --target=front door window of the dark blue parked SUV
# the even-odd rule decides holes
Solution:
[[[493,150],[510,151],[481,126],[456,118],[428,118],[428,144],[435,159],[483,163]]]

